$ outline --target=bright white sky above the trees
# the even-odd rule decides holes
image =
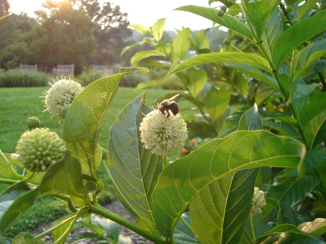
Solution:
[[[33,12],[41,9],[41,4],[45,0],[8,0],[8,2],[11,12],[16,14],[26,12],[33,17]],[[104,0],[99,0],[99,2],[102,3]],[[208,0],[106,0],[105,2],[119,5],[121,11],[128,14],[127,19],[130,24],[142,24],[145,27],[151,27],[158,19],[167,18],[164,27],[166,31],[174,31],[175,28],[181,29],[182,26],[194,30],[212,27],[212,21],[201,16],[184,11],[172,11],[186,5],[209,7]],[[216,3],[213,4],[211,7],[217,6]]]

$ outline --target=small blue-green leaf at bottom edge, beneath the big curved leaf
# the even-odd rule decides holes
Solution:
[[[173,234],[175,244],[197,244],[196,235],[192,230],[190,215],[188,212],[181,215]]]

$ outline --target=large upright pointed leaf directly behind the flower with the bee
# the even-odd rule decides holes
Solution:
[[[151,209],[152,192],[162,170],[162,157],[141,142],[140,123],[151,109],[143,103],[145,93],[126,106],[110,132],[108,167],[119,199],[138,225],[156,232]]]

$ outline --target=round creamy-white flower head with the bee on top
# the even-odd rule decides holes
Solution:
[[[167,118],[167,114],[162,114],[158,109],[143,118],[140,131],[145,148],[157,155],[180,150],[188,137],[187,124],[179,113]]]

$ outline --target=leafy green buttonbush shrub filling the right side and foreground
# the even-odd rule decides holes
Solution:
[[[71,100],[62,138],[67,150],[61,159],[44,172],[32,172],[23,168],[19,155],[2,154],[0,181],[11,186],[0,196],[1,234],[35,199],[50,195],[70,214],[34,236],[37,241],[53,231],[53,243],[64,243],[79,218],[96,214],[161,244],[325,243],[325,3],[219,2],[226,7],[177,10],[228,28],[228,46],[214,52],[205,31],[188,28],[178,31],[171,43],[163,42],[165,19],[151,28],[133,25],[148,36],[138,44],[149,43],[153,49],[135,53],[131,65],[147,68],[122,68],[90,83]],[[166,120],[146,120],[142,128],[157,125],[147,132],[157,141],[145,145],[146,130],[139,129],[157,108],[146,105],[144,92],[116,118],[106,163],[98,144],[104,113],[110,112],[119,81],[148,68],[167,70],[166,77],[175,74],[178,79],[150,81],[139,88],[178,86],[175,102],[194,105],[189,109],[195,112],[184,116],[189,140],[213,139],[174,162],[166,154],[156,155],[166,151],[159,149],[170,140],[165,137],[170,127],[164,125],[177,124],[171,111]],[[182,113],[186,108],[179,109]],[[180,143],[190,143],[184,139]],[[137,224],[99,205],[104,184],[95,170],[101,162]],[[88,238],[100,238],[103,232],[98,231]]]

